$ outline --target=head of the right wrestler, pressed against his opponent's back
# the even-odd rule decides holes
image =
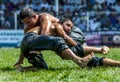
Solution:
[[[73,22],[70,19],[62,18],[60,19],[60,22],[63,26],[63,29],[66,33],[69,33],[71,31],[71,28],[73,27]]]

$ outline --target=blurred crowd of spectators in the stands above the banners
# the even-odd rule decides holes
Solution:
[[[91,31],[98,29],[115,30],[116,28],[120,28],[119,0],[59,0],[59,12],[55,10],[55,1],[56,0],[1,0],[0,28],[13,29],[14,13],[18,13],[23,7],[31,7],[37,12],[51,13],[58,18],[61,18],[61,16],[69,17],[74,21],[74,24],[79,26],[83,31],[85,31],[86,28],[87,30],[89,28]],[[19,19],[17,23],[19,29],[24,28]]]

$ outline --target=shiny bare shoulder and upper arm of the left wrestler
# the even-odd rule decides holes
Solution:
[[[52,25],[52,23],[54,22],[58,22],[59,19],[57,19],[56,17],[50,15],[50,14],[42,14],[40,17],[40,34],[44,34],[44,35],[49,35],[50,32],[50,26]]]

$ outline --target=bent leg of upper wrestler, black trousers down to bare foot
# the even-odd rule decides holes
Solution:
[[[69,49],[65,41],[60,37],[36,35],[33,42],[34,46],[36,46],[38,50],[46,49],[62,53],[62,55],[66,56],[68,59],[73,60],[81,67],[86,66],[88,61],[90,61],[92,58],[91,55],[84,59],[78,57]],[[85,59],[88,61],[85,61]]]

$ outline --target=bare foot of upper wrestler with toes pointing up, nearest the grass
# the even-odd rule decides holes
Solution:
[[[81,67],[81,68],[84,68],[87,66],[87,64],[89,63],[89,61],[94,57],[94,53],[91,52],[89,55],[83,57],[81,59],[81,63],[78,63],[78,65]]]

